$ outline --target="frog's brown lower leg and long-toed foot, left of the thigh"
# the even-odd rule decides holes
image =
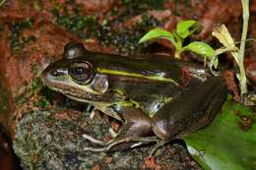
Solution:
[[[152,134],[152,119],[141,110],[133,107],[123,107],[116,111],[125,120],[117,136],[109,142],[100,142],[90,136],[84,135],[84,138],[87,140],[101,145],[101,147],[86,147],[84,150],[110,151],[117,150],[118,148],[127,149],[150,142],[158,142],[157,137],[149,137]]]

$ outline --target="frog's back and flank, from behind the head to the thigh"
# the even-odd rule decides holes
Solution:
[[[85,58],[96,72],[108,76],[110,89],[119,90],[128,102],[150,116],[165,102],[210,76],[201,66],[162,56],[131,58],[88,53]]]

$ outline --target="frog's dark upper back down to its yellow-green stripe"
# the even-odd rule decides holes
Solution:
[[[107,75],[156,80],[185,87],[211,77],[202,66],[158,55],[120,57],[88,52],[84,57],[95,65],[97,72]]]

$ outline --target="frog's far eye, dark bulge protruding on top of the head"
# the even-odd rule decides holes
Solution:
[[[87,52],[86,48],[82,43],[70,42],[64,47],[64,58],[74,59],[85,55]]]

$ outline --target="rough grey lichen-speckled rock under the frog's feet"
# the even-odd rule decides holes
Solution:
[[[154,164],[147,158],[153,145],[111,153],[83,151],[92,145],[83,139],[84,133],[100,139],[106,137],[108,128],[105,119],[90,120],[89,114],[74,110],[34,111],[19,122],[14,149],[28,170],[147,169],[153,165],[161,169],[200,169],[177,144],[160,148]]]

